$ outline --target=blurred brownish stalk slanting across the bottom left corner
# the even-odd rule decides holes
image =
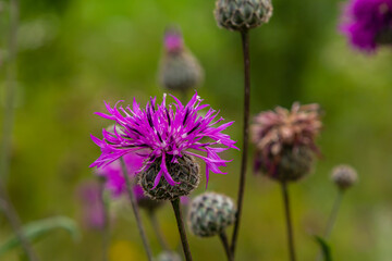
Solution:
[[[23,234],[19,215],[10,202],[11,202],[10,198],[7,195],[4,187],[2,186],[2,184],[0,184],[0,209],[3,211],[7,220],[10,222],[11,227],[14,231],[19,241],[21,243],[21,246],[22,246],[25,254],[27,256],[28,260],[29,261],[38,261],[38,258],[35,254],[29,241]]]

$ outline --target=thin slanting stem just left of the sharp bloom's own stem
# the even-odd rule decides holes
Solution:
[[[144,248],[145,248],[146,253],[147,253],[147,258],[148,258],[149,261],[152,261],[152,251],[151,251],[151,248],[150,248],[150,246],[148,244],[147,235],[146,235],[145,228],[143,226],[139,209],[138,209],[136,198],[135,198],[135,195],[134,195],[134,191],[133,191],[130,175],[127,173],[125,162],[124,162],[124,160],[122,158],[121,158],[121,167],[122,167],[122,172],[123,172],[125,183],[126,183],[127,195],[130,197],[132,209],[133,209],[134,214],[135,214],[137,229],[138,229],[139,234],[140,234],[143,245],[144,245]]]

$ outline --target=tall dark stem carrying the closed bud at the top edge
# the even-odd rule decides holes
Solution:
[[[234,224],[234,232],[231,241],[231,251],[235,253],[236,241],[238,237],[241,215],[243,210],[244,202],[244,192],[245,192],[245,182],[246,182],[246,165],[247,165],[247,154],[248,154],[248,144],[249,144],[249,111],[250,111],[250,55],[249,55],[249,34],[247,30],[241,33],[243,53],[244,53],[244,129],[243,129],[243,154],[241,162],[241,174],[238,183],[238,198],[237,198],[237,213]]]

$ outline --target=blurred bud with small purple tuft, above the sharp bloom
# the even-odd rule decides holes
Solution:
[[[163,39],[159,83],[170,90],[191,90],[200,85],[204,71],[196,57],[185,47],[177,28],[168,28]]]

